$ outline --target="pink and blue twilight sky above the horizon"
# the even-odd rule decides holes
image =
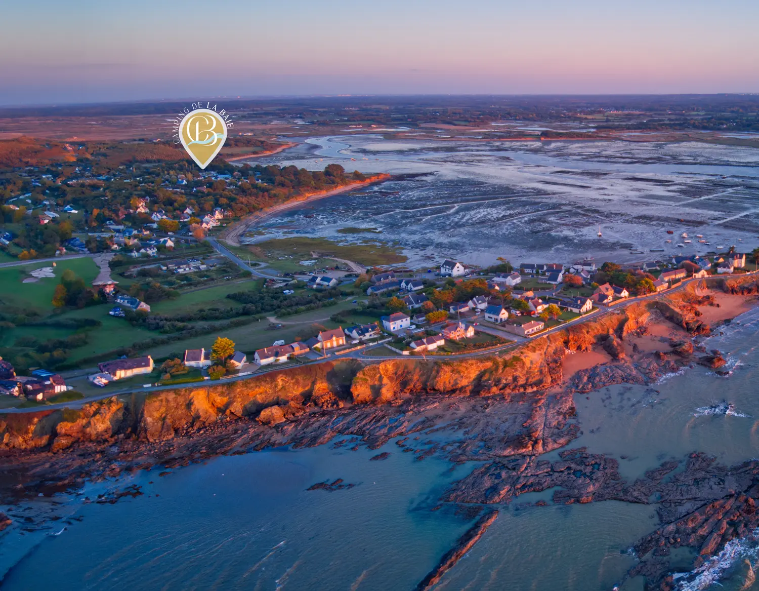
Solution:
[[[0,0],[0,105],[757,93],[757,0]]]

